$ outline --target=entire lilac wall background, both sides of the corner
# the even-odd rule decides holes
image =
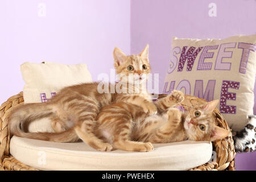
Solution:
[[[216,17],[208,15],[212,2],[217,5]],[[99,73],[113,68],[115,46],[130,54],[139,53],[147,43],[162,91],[172,36],[255,34],[255,22],[255,0],[2,0],[0,103],[23,89],[19,65],[25,61],[87,63],[96,81]],[[255,161],[256,152],[238,154],[237,169],[256,170]]]

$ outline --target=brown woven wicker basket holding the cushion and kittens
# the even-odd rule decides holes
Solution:
[[[160,97],[164,97],[166,95],[160,95]],[[204,103],[205,100],[193,96],[185,96],[188,100],[191,101],[192,105]],[[8,117],[10,111],[13,107],[23,104],[23,92],[20,92],[16,96],[10,97],[6,102],[4,102],[0,106],[0,170],[8,170],[8,171],[31,171],[38,170],[33,167],[27,166],[26,164],[20,163],[13,156],[10,155],[10,135],[8,130]],[[186,105],[183,105],[186,107]],[[216,114],[216,122],[218,122],[218,126],[228,129],[228,123],[221,116],[220,111],[217,109],[214,110]],[[231,131],[230,137],[227,137],[222,140],[217,140],[213,142],[213,150],[216,152],[216,163],[206,163],[202,166],[190,169],[197,171],[223,171],[223,170],[234,170],[234,157],[236,152],[234,150],[234,142],[232,139]]]

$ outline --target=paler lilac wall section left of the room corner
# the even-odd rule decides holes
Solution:
[[[22,91],[25,61],[87,63],[97,80],[114,68],[115,46],[130,53],[130,1],[2,0],[0,23],[0,103]]]

